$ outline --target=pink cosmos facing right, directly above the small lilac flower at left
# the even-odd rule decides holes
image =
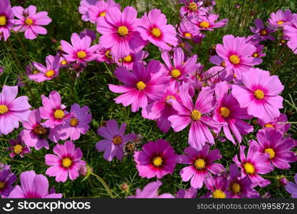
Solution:
[[[66,106],[61,103],[60,93],[51,91],[48,98],[41,95],[41,100],[43,104],[43,106],[39,108],[41,118],[47,120],[42,124],[48,128],[64,125],[66,118],[70,115],[65,111]]]

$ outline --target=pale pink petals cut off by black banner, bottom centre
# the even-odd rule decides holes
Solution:
[[[151,182],[143,188],[143,190],[137,189],[136,195],[129,196],[127,198],[174,198],[170,193],[164,193],[162,195],[158,195],[158,189],[162,185],[160,180]]]

